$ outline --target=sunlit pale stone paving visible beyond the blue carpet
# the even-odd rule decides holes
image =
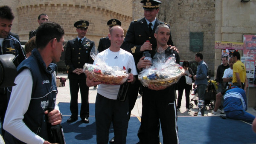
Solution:
[[[57,95],[57,102],[70,102],[70,89],[69,89],[69,80],[67,79],[67,74],[58,74],[58,78],[66,78],[66,86],[63,87],[58,87],[58,95]],[[97,94],[97,89],[93,89],[93,87],[90,87],[89,89],[89,103],[95,103],[96,99],[96,94]],[[178,92],[177,92],[178,94]],[[138,94],[139,95],[139,94]],[[190,98],[193,96],[190,95]],[[79,92],[79,97],[78,97],[79,103],[81,103],[81,96]],[[177,101],[176,101],[177,102]],[[186,101],[185,101],[185,92],[183,92],[183,97],[181,101],[181,107],[180,111],[177,112],[178,116],[193,116],[194,112],[198,111],[198,108],[195,106],[194,101],[192,101],[192,104],[194,104],[194,107],[191,109],[191,112],[186,111]],[[131,112],[131,115],[134,116],[141,116],[141,110],[142,110],[142,97],[139,95],[136,101],[136,104],[134,106],[134,109]],[[209,110],[209,107],[207,106],[207,110],[205,111],[205,116],[219,116],[219,115],[225,115],[225,114],[220,114],[220,110],[218,110],[217,115],[211,114],[211,111]],[[253,109],[253,107],[248,107],[247,112],[250,112],[253,115],[256,115],[256,110]]]

